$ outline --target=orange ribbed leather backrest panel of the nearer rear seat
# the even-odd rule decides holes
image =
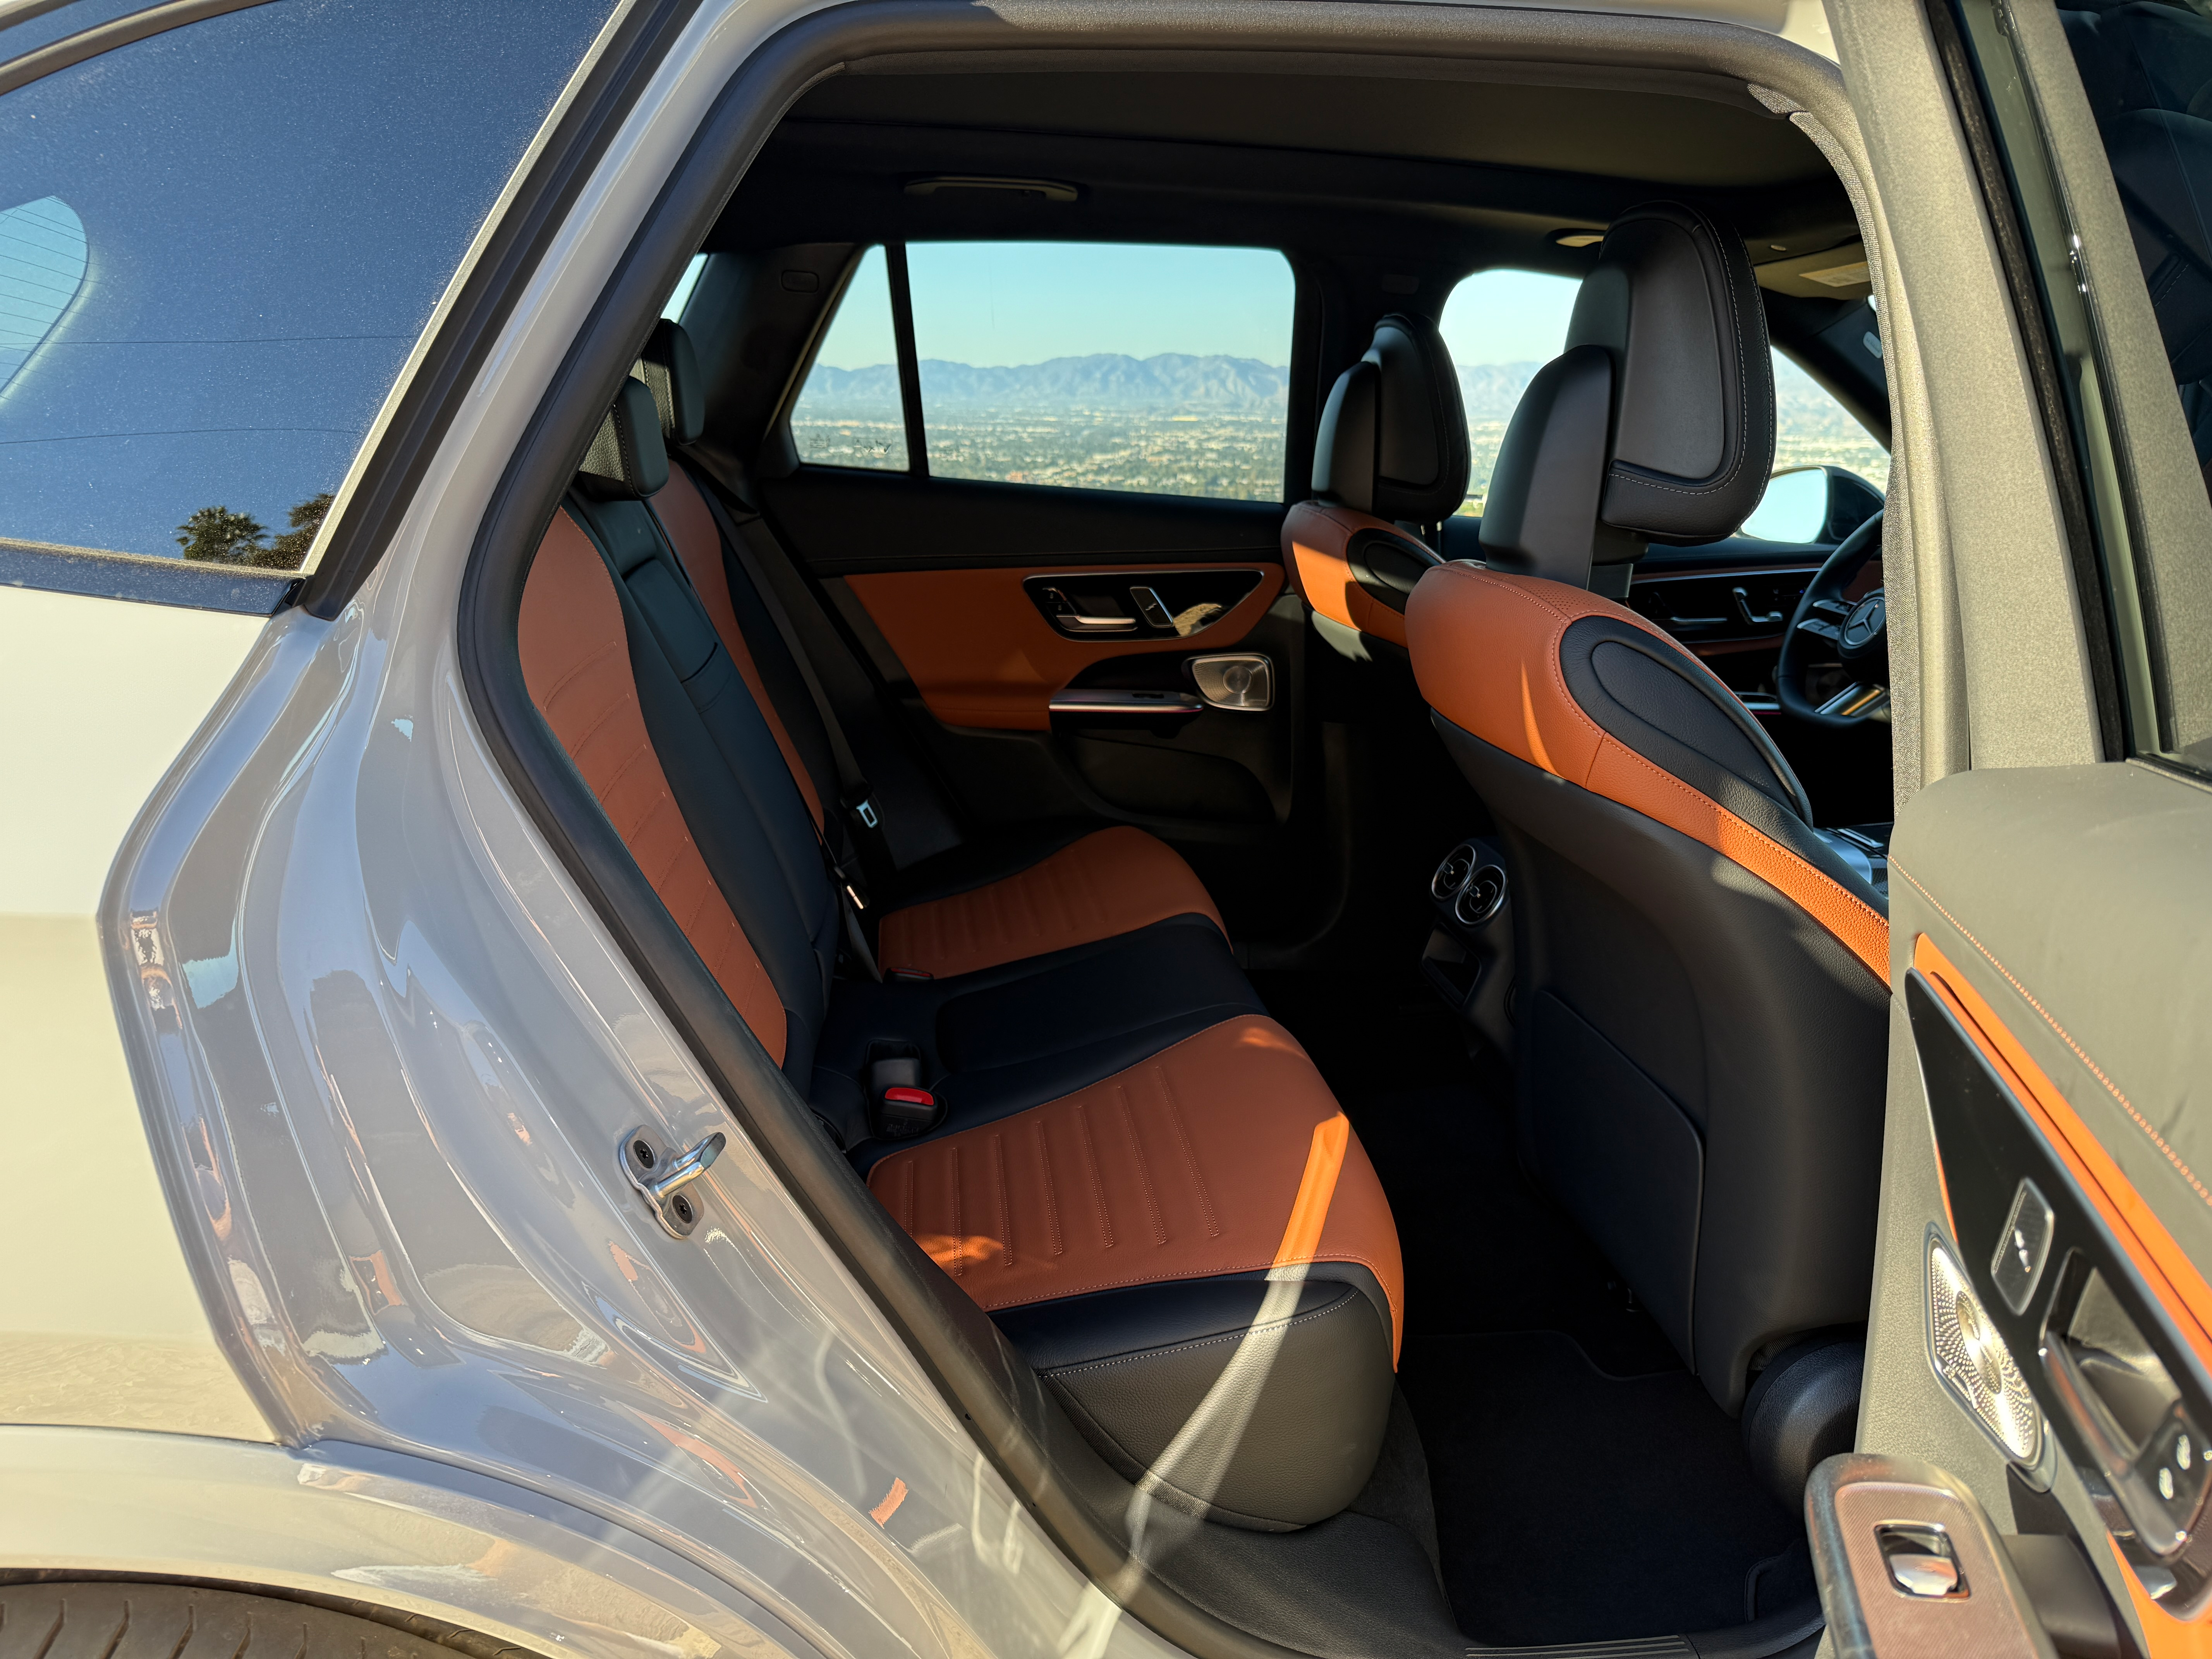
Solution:
[[[518,644],[538,712],[708,973],[783,1064],[783,1002],[668,792],[637,706],[615,580],[566,511],[553,515],[531,564]]]

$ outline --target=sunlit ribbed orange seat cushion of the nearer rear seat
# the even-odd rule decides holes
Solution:
[[[1405,1332],[1398,1225],[1298,1042],[1241,1018],[1044,1106],[891,1152],[869,1190],[984,1310],[1354,1261]]]

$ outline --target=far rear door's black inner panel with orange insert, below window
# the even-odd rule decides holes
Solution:
[[[821,582],[973,825],[1137,823],[1177,845],[1239,936],[1296,933],[1292,874],[1318,801],[1305,734],[1303,602],[1285,591],[1283,507],[801,467],[759,484],[783,546]],[[1071,637],[1031,586],[1077,606],[1133,584],[1214,577],[1243,597],[1190,635]],[[1192,697],[1188,664],[1256,653],[1265,712],[1053,712],[1068,690]],[[1064,699],[1066,701],[1066,699]],[[1307,847],[1310,852],[1310,847]]]

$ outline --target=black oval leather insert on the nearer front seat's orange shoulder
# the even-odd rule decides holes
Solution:
[[[1559,672],[1606,732],[1889,914],[1889,900],[1812,827],[1774,739],[1703,664],[1628,622],[1582,617],[1559,637]]]

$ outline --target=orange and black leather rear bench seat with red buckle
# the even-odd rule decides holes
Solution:
[[[995,885],[973,902],[1013,909],[1097,878],[1091,938],[1011,958],[1066,933],[1004,925],[938,958],[998,960],[947,978],[841,975],[818,732],[776,701],[785,664],[739,624],[759,595],[712,511],[708,553],[686,491],[703,507],[692,480],[670,489],[661,411],[633,378],[518,617],[531,699],[584,785],[869,1190],[1108,1462],[1225,1522],[1334,1515],[1374,1469],[1405,1310],[1389,1203],[1327,1084],[1210,902],[1115,900],[1108,874],[1181,865],[1159,843],[1115,852],[1126,836],[1082,852],[1117,832],[1053,854],[1086,876],[1040,876],[1048,856],[1026,889],[1013,872],[951,894]],[[664,524],[690,526],[690,560]],[[860,1077],[885,1044],[916,1048],[945,1102],[925,1135],[869,1121]]]

